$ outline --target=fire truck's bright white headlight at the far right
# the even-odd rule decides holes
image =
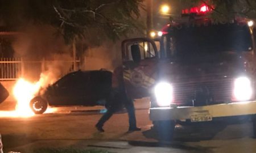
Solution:
[[[234,97],[238,101],[250,100],[253,95],[251,82],[245,76],[234,80]]]

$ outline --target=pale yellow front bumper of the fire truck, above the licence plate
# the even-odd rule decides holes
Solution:
[[[150,108],[150,120],[187,120],[195,114],[210,114],[214,117],[229,117],[256,114],[256,101],[206,105],[201,107]]]

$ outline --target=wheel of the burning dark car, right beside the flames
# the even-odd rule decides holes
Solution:
[[[40,96],[34,97],[30,101],[30,108],[35,114],[42,114],[46,112],[47,107],[48,107],[47,101],[42,99],[42,97]]]

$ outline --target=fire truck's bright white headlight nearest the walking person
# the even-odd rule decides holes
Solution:
[[[173,89],[170,83],[160,82],[155,86],[156,102],[160,107],[169,106],[173,100]]]

